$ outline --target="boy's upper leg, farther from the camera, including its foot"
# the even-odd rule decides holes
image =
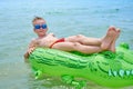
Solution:
[[[65,40],[70,42],[80,42],[85,46],[101,46],[102,44],[102,48],[103,46],[108,48],[114,38],[114,32],[115,32],[115,28],[110,27],[104,38],[89,38],[82,34],[78,34],[78,36],[68,37],[65,38]]]

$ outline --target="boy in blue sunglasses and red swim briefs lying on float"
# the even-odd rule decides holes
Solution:
[[[38,34],[38,38],[33,39],[29,44],[24,55],[25,59],[37,47],[45,47],[63,51],[80,51],[83,53],[94,53],[104,50],[115,52],[115,41],[120,34],[120,29],[110,27],[103,38],[88,38],[85,36],[78,34],[59,39],[54,37],[53,33],[47,33],[48,27],[43,18],[35,17],[32,23],[33,31]]]

